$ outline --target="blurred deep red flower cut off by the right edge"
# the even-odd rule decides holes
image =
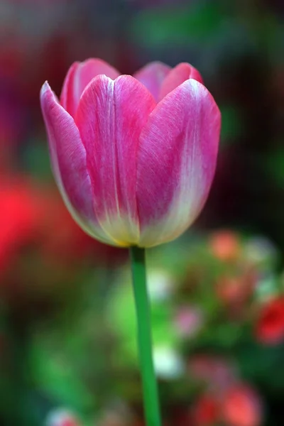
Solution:
[[[284,296],[268,300],[256,323],[256,337],[263,344],[278,344],[284,339]]]

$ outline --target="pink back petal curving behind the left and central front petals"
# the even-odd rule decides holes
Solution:
[[[60,96],[60,103],[73,117],[76,114],[82,92],[89,82],[99,74],[111,79],[119,77],[119,71],[101,59],[75,62],[67,72]]]

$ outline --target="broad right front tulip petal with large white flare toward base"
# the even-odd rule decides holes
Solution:
[[[214,176],[220,125],[212,95],[192,79],[150,114],[138,149],[139,246],[175,239],[195,220]]]

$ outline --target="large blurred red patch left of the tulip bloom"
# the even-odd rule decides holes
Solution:
[[[36,187],[23,176],[0,177],[0,223],[1,272],[31,244],[46,261],[68,265],[87,257],[102,262],[119,254],[121,259],[124,254],[84,234],[57,192]]]

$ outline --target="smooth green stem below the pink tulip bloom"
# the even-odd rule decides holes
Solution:
[[[146,425],[160,426],[158,390],[152,357],[151,309],[146,284],[145,249],[131,247],[130,255]]]

